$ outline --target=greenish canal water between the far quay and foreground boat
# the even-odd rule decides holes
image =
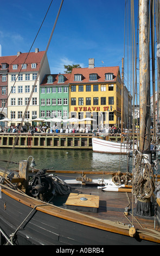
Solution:
[[[8,160],[11,149],[0,148],[0,160]],[[15,149],[11,161],[19,162],[33,156],[36,168],[54,170],[100,170],[125,172],[127,169],[127,156],[94,153],[92,150],[76,149]],[[31,160],[31,158],[30,158]],[[2,167],[7,163],[0,161]],[[130,159],[130,169],[132,157]],[[10,166],[9,166],[10,167]],[[12,167],[12,165],[11,165]],[[17,165],[15,164],[15,167]]]

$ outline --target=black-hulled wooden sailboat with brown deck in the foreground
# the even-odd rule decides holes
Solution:
[[[140,5],[148,2],[140,0]],[[34,169],[34,159],[30,166],[31,173],[29,160],[20,161],[18,171],[1,168],[1,244],[96,247],[160,243],[159,224],[153,227],[153,217],[135,216],[131,193],[134,175],[54,170],[50,173]],[[108,185],[118,191],[105,192],[103,188]],[[160,205],[160,199],[156,200]]]

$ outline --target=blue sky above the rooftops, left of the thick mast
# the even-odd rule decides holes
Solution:
[[[28,52],[51,0],[1,1],[0,44],[2,56]],[[61,0],[54,0],[36,47],[44,51]],[[52,74],[63,73],[63,65],[120,66],[124,56],[125,0],[64,0],[47,56]],[[102,63],[104,62],[104,64]]]

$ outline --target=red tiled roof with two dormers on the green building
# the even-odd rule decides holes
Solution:
[[[63,75],[65,76],[65,82],[64,83],[59,83],[59,76],[60,75]],[[53,80],[53,83],[47,83],[47,77],[48,76],[52,76],[54,78]],[[69,80],[70,80],[70,77],[71,77],[71,74],[55,74],[55,75],[46,75],[42,81],[42,83],[40,84],[40,86],[63,86],[63,85],[67,85],[69,83]]]

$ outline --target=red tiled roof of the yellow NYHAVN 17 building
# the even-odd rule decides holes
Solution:
[[[113,80],[110,82],[116,82],[116,78],[118,75],[119,66],[103,66],[99,68],[74,68],[72,70],[70,83],[91,83],[89,81],[89,74],[97,74],[98,80],[92,81],[92,82],[106,82],[105,80],[105,74],[106,73],[113,73]],[[82,75],[82,81],[74,81],[74,75],[75,74],[81,74]]]

